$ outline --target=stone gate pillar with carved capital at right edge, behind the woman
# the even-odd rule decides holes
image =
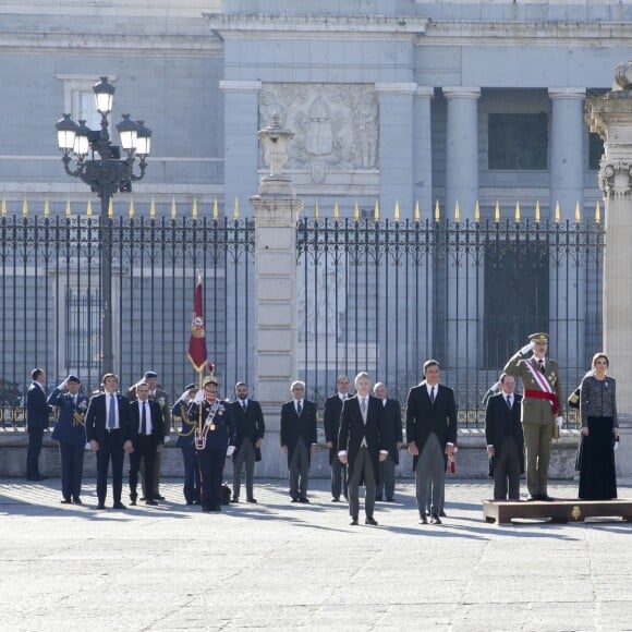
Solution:
[[[616,84],[603,97],[587,99],[591,131],[604,139],[599,186],[606,200],[604,264],[604,351],[609,373],[619,378],[617,408],[622,438],[617,452],[619,476],[632,475],[632,61],[619,64]]]

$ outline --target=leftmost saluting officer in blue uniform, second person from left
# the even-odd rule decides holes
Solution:
[[[81,386],[76,375],[69,375],[48,398],[48,403],[59,409],[50,438],[59,441],[63,505],[82,505],[88,398],[80,392]]]

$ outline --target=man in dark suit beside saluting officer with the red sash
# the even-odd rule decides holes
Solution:
[[[520,423],[522,396],[515,378],[500,376],[500,392],[491,396],[485,411],[485,439],[493,463],[494,500],[519,500],[520,475],[524,472],[524,436]]]

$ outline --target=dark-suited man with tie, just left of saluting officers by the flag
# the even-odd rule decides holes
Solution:
[[[162,406],[149,399],[149,385],[136,385],[136,400],[130,404],[131,439],[130,451],[130,500],[136,505],[136,486],[141,462],[145,464],[145,505],[158,505],[154,497],[154,473],[156,455],[162,452],[165,443],[165,420]]]

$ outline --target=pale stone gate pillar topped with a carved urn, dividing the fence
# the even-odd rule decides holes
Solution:
[[[279,438],[281,404],[297,376],[296,221],[303,208],[283,173],[287,144],[294,134],[275,117],[259,131],[270,173],[251,197],[255,210],[255,385],[266,417],[259,476],[285,476],[288,463]]]

